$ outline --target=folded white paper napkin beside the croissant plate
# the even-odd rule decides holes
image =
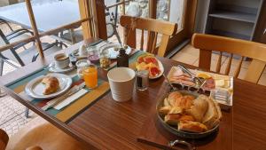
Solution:
[[[80,99],[87,92],[88,92],[87,90],[82,89],[82,90],[74,93],[70,97],[66,98],[65,100],[61,101],[59,104],[57,104],[53,108],[60,110],[64,107],[68,106],[69,104],[73,103],[76,99]]]

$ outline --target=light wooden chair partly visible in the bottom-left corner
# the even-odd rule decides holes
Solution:
[[[0,150],[85,150],[81,142],[66,135],[41,117],[26,124],[11,138],[0,129]]]

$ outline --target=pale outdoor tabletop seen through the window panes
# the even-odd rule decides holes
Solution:
[[[34,0],[31,2],[40,32],[80,20],[79,4],[74,0]],[[26,3],[0,7],[0,19],[31,28]]]

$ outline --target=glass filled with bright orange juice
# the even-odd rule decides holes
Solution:
[[[87,88],[94,89],[98,86],[98,71],[95,65],[83,69],[83,79]]]

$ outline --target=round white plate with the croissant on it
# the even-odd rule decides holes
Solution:
[[[59,79],[59,90],[50,95],[43,94],[45,85],[42,83],[42,80],[46,76],[54,76]],[[30,97],[35,99],[51,99],[66,92],[71,87],[71,84],[72,84],[72,78],[70,76],[53,73],[48,75],[42,75],[33,79],[32,81],[27,83],[25,91]]]

